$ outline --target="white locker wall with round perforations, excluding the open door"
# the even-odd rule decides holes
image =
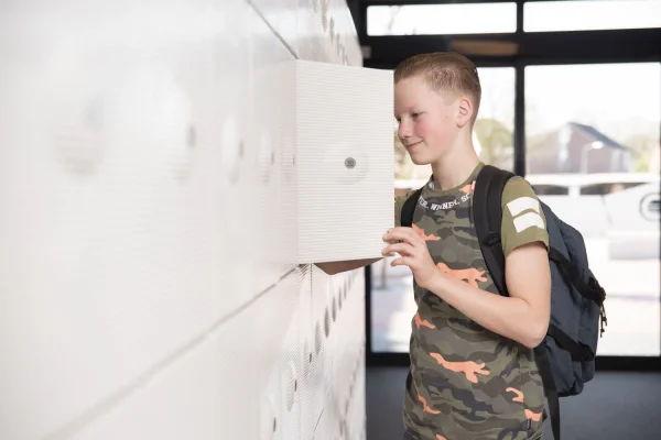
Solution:
[[[291,245],[345,2],[9,1],[0,59],[0,439],[365,439],[362,271]]]

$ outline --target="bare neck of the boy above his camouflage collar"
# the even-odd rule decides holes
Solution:
[[[452,148],[441,161],[432,164],[436,189],[445,190],[462,185],[479,162],[472,141]]]

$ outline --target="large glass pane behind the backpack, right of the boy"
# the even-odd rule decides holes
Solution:
[[[658,63],[525,69],[527,179],[585,239],[600,355],[661,354],[659,78]]]

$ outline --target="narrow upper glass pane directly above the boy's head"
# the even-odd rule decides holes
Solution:
[[[516,30],[513,2],[367,8],[367,34],[372,36],[490,34]]]

